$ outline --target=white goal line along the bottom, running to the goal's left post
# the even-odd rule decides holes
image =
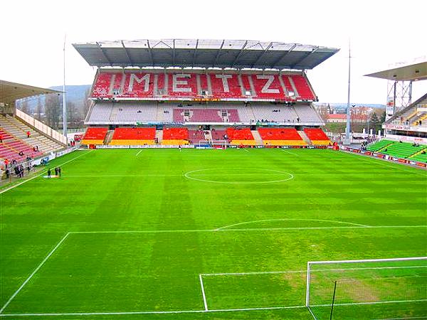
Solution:
[[[211,309],[211,310],[176,310],[176,311],[123,311],[123,312],[69,312],[56,314],[0,314],[1,316],[110,316],[126,314],[201,314],[208,312],[238,312],[255,310],[302,309],[306,306],[265,306],[261,308]]]

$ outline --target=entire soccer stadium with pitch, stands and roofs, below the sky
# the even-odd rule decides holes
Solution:
[[[61,92],[0,82],[0,319],[427,318],[427,95],[359,148],[306,73],[339,48],[73,47],[81,142],[15,107]]]

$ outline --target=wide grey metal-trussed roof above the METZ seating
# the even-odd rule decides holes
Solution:
[[[339,49],[250,40],[162,39],[74,43],[97,67],[312,69]]]

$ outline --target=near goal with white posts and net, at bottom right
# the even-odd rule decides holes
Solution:
[[[307,262],[314,319],[427,316],[427,257]]]

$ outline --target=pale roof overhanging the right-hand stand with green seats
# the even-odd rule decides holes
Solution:
[[[423,62],[370,73],[366,76],[394,81],[427,80],[427,59]]]

